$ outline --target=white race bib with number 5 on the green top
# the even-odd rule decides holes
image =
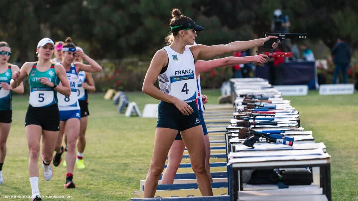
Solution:
[[[48,88],[32,88],[30,92],[30,105],[32,107],[44,107],[54,101],[54,91]]]

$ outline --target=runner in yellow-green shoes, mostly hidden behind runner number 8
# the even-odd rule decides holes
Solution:
[[[76,50],[82,50],[82,48],[76,46]],[[74,62],[80,62],[83,63],[82,57],[79,57],[75,55]],[[95,84],[92,77],[92,73],[80,71],[78,73],[79,77],[79,83],[78,83],[78,89],[77,89],[77,97],[80,104],[81,109],[81,119],[80,119],[80,135],[77,141],[77,158],[76,158],[76,165],[79,169],[84,169],[85,164],[83,161],[83,152],[85,150],[86,146],[86,129],[87,129],[87,116],[89,116],[89,110],[88,110],[88,95],[87,91],[89,92],[95,92]],[[64,134],[64,142],[65,142],[65,151],[67,151],[67,135]],[[63,163],[63,165],[66,167],[66,162]]]

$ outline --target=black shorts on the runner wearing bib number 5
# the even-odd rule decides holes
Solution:
[[[57,104],[48,107],[32,107],[29,105],[25,117],[25,126],[39,125],[43,130],[60,130],[60,113]]]

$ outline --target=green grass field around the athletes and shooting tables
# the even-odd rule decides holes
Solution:
[[[219,90],[203,90],[209,103],[217,103]],[[126,93],[143,111],[146,103],[157,100],[140,92]],[[156,119],[127,118],[118,114],[112,101],[103,100],[101,93],[89,95],[89,126],[84,154],[86,169],[75,167],[76,189],[64,189],[66,168],[53,167],[54,175],[45,181],[40,169],[39,188],[42,196],[64,196],[43,200],[56,201],[128,201],[139,190],[150,164]],[[305,130],[312,130],[316,142],[324,142],[332,156],[332,200],[358,200],[358,93],[345,96],[319,96],[316,91],[306,97],[285,97],[292,100]],[[7,141],[3,196],[30,195],[28,148],[24,118],[28,96],[13,97],[13,123]],[[64,158],[64,156],[62,156]],[[39,160],[40,161],[40,160]],[[39,163],[40,164],[40,163]]]

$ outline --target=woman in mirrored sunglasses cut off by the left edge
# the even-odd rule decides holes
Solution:
[[[12,92],[22,94],[23,83],[16,88],[11,88],[12,72],[19,71],[17,65],[9,64],[11,55],[9,44],[0,42],[0,184],[3,183],[2,166],[6,157],[6,141],[10,133],[12,122]]]

